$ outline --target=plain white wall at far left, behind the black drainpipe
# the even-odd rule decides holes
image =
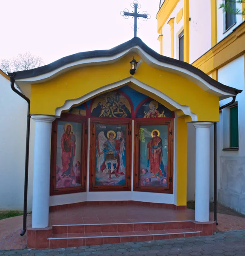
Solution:
[[[27,103],[0,75],[0,210],[23,210]],[[33,126],[33,124],[32,124]],[[30,146],[28,210],[32,210],[33,131]]]

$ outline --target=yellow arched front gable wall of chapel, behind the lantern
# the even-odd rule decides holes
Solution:
[[[140,59],[136,55],[135,58]],[[55,109],[63,106],[66,100],[77,99],[107,84],[126,79],[130,76],[131,60],[132,54],[114,64],[81,67],[50,81],[32,84],[31,113],[54,115]],[[137,68],[134,78],[161,91],[179,104],[189,106],[200,121],[219,120],[219,98],[182,76],[158,70],[143,62]]]

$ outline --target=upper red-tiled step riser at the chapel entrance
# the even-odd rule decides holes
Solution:
[[[53,234],[135,232],[152,230],[182,230],[193,228],[192,221],[135,222],[107,224],[53,225]]]

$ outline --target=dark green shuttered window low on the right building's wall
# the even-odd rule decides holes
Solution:
[[[238,148],[238,107],[230,107],[230,148]]]

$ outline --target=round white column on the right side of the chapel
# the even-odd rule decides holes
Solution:
[[[209,221],[210,127],[212,122],[194,122],[196,128],[195,221]]]

